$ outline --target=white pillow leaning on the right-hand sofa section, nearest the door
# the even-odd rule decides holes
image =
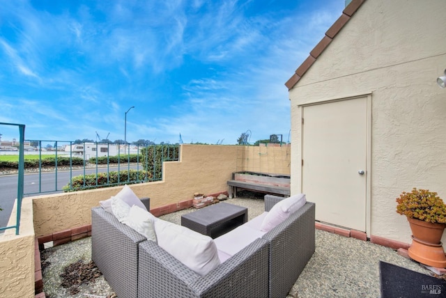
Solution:
[[[299,210],[300,207],[307,203],[305,194],[295,194],[289,198],[284,198],[279,203],[272,206],[270,212],[263,219],[260,230],[269,232],[272,228],[282,223],[291,213]]]

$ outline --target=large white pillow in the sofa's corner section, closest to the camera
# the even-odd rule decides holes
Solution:
[[[206,275],[220,265],[213,239],[184,226],[157,219],[155,233],[158,245],[177,260],[200,275]]]

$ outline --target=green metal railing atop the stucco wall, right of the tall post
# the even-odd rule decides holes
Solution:
[[[179,147],[170,144],[54,141],[53,148],[63,151],[50,150],[46,155],[54,155],[43,157],[43,143],[48,142],[38,141],[38,180],[26,183],[34,185],[25,188],[26,195],[162,180],[162,163],[179,156]]]

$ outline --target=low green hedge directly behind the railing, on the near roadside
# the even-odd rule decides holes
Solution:
[[[112,171],[109,172],[108,178],[107,173],[98,173],[97,179],[96,174],[85,175],[85,178],[84,175],[75,176],[71,179],[71,187],[70,184],[68,184],[62,187],[62,189],[65,192],[78,191],[85,189],[112,187],[116,185],[130,185],[145,182],[148,180],[151,180],[151,173],[147,173],[146,171]]]

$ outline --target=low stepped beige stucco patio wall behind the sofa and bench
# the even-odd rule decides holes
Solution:
[[[226,181],[231,174],[241,171],[266,171],[267,173],[289,173],[286,162],[268,159],[254,162],[240,161],[238,155],[265,157],[277,161],[286,161],[286,148],[259,148],[245,146],[208,146],[182,145],[179,162],[165,162],[163,181],[130,185],[139,197],[151,198],[151,208],[178,203],[194,197],[195,192],[215,194],[227,191]],[[288,153],[289,155],[289,153]],[[258,166],[261,162],[261,166]],[[50,235],[54,232],[84,226],[91,223],[91,207],[99,201],[114,196],[122,187],[109,187],[77,191],[66,194],[52,194],[33,198],[34,228],[36,236]]]

